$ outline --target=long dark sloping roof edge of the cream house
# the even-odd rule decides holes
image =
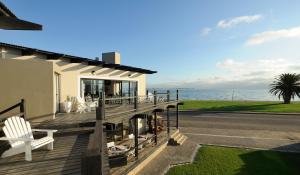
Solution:
[[[73,55],[68,55],[68,54],[62,54],[62,53],[57,53],[57,52],[51,52],[51,51],[35,49],[35,48],[30,48],[30,47],[24,47],[24,46],[20,46],[20,45],[14,45],[14,44],[8,44],[8,43],[0,42],[0,47],[1,46],[22,50],[23,55],[32,55],[33,53],[45,54],[45,55],[47,55],[48,60],[68,58],[68,59],[70,59],[70,63],[87,62],[88,65],[101,66],[101,67],[105,67],[105,68],[113,68],[113,69],[117,69],[117,70],[138,72],[138,73],[143,73],[143,74],[157,73],[157,71],[153,71],[153,70],[148,70],[148,69],[143,69],[143,68],[138,68],[138,67],[132,67],[132,66],[126,66],[126,65],[121,65],[121,64],[106,64],[103,61],[98,61],[98,60],[95,60],[95,59],[84,58],[84,57],[79,57],[79,56],[73,56]]]

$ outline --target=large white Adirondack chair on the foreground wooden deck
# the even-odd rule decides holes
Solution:
[[[0,140],[8,140],[11,148],[5,151],[1,157],[8,157],[25,152],[25,160],[31,161],[31,151],[47,145],[48,150],[53,150],[53,133],[57,130],[31,129],[30,123],[23,118],[13,116],[4,122],[3,131],[6,137]],[[34,139],[32,132],[47,132],[47,136]]]

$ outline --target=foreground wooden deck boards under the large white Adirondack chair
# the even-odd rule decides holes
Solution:
[[[81,153],[86,150],[88,134],[56,137],[54,150],[34,150],[33,160],[26,162],[24,154],[0,159],[0,174],[80,174]]]

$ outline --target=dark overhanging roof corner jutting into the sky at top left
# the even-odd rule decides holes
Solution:
[[[0,29],[42,30],[42,25],[19,19],[0,1]]]

